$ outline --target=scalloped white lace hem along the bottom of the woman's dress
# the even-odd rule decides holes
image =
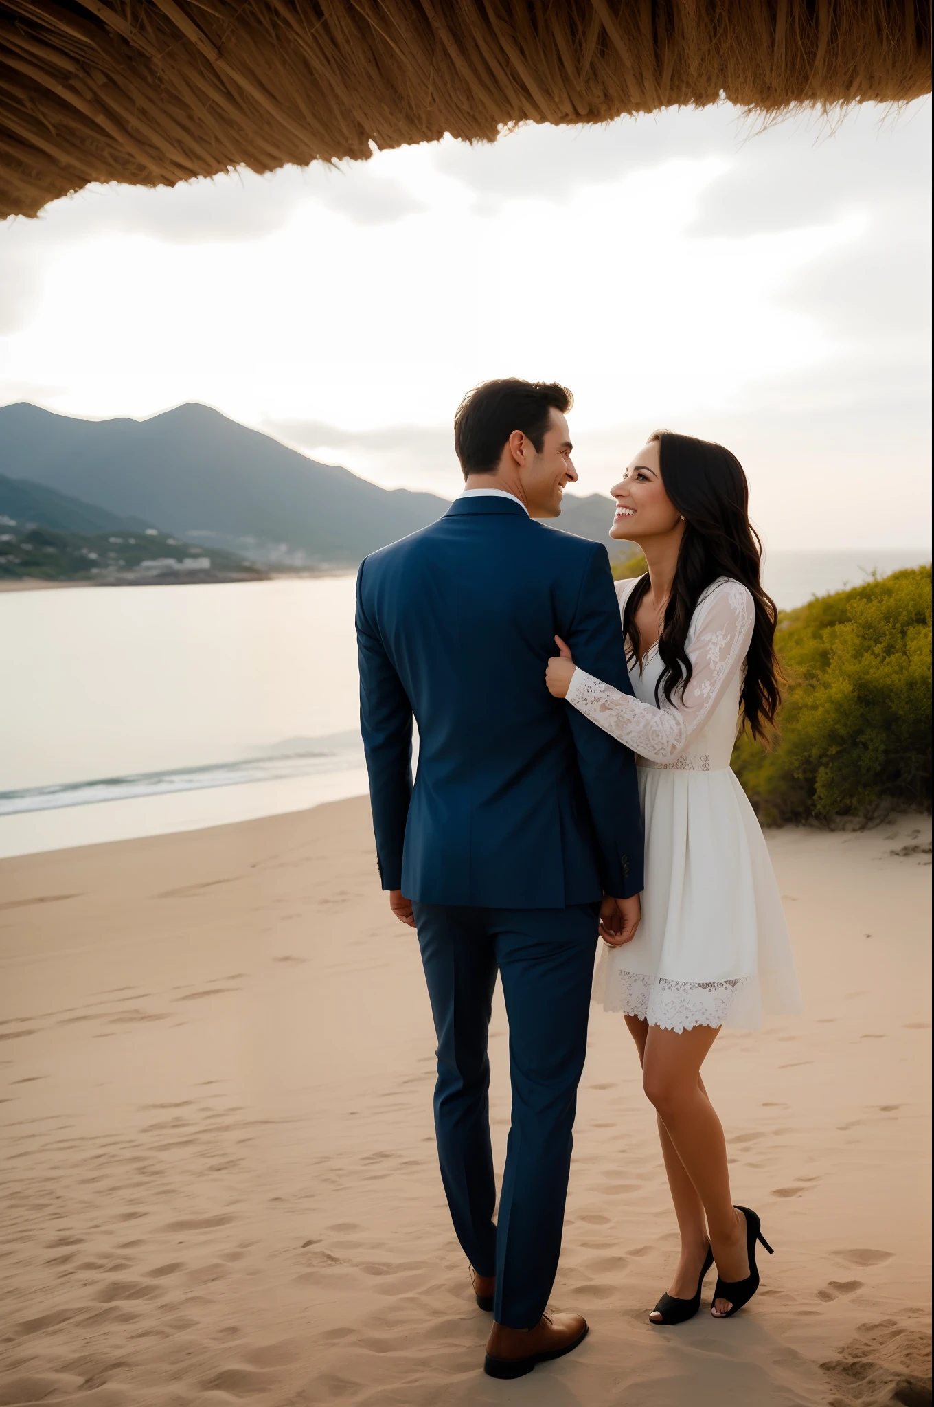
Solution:
[[[594,976],[594,1000],[605,1012],[623,1012],[668,1031],[693,1026],[746,1026],[761,1023],[757,976],[723,982],[674,982],[647,972],[627,972],[606,957]]]

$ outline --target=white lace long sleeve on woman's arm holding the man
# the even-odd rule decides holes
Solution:
[[[736,677],[754,623],[753,597],[746,587],[738,581],[720,581],[693,613],[685,643],[693,674],[686,689],[675,691],[674,702],[663,694],[658,708],[643,704],[584,670],[574,671],[567,701],[640,757],[674,763]]]

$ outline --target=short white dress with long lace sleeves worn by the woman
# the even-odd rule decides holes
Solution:
[[[620,613],[634,581],[619,581]],[[753,597],[723,578],[693,613],[684,698],[660,695],[655,646],[636,698],[577,670],[567,701],[637,754],[646,817],[643,916],[632,943],[601,944],[594,1000],[674,1031],[758,1030],[764,1013],[800,1010],[782,902],[755,813],[730,771]]]

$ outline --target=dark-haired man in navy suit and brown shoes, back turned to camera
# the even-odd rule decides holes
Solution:
[[[554,636],[632,692],[606,549],[554,532],[577,480],[561,386],[490,381],[461,402],[466,488],[357,577],[360,722],[380,877],[418,930],[437,1033],[442,1179],[477,1303],[485,1370],[571,1352],[580,1314],[546,1314],[561,1249],[598,927],[639,924],[633,756],[544,687]],[[412,785],[412,718],[419,757]],[[487,1033],[499,972],[512,1127],[494,1223]]]

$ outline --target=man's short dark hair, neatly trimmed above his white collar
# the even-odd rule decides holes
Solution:
[[[484,381],[468,391],[454,415],[454,449],[464,478],[468,474],[495,474],[504,445],[513,431],[527,435],[542,450],[551,411],[563,415],[574,397],[557,381]]]

